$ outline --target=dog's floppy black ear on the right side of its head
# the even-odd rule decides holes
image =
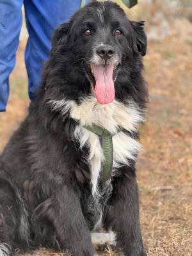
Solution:
[[[133,42],[134,50],[140,52],[142,56],[145,56],[147,51],[147,36],[144,31],[144,21],[131,21],[131,25],[135,35]]]

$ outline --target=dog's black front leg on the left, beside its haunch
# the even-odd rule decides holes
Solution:
[[[92,246],[90,230],[84,220],[78,193],[72,186],[63,186],[58,202],[63,202],[56,228],[61,243],[73,256],[97,255]]]

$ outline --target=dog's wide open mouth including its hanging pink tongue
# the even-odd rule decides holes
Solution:
[[[115,80],[118,65],[93,65],[84,63],[86,75],[93,84],[93,92],[100,104],[109,104],[115,99]]]

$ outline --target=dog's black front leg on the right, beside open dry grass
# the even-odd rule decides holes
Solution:
[[[116,233],[126,256],[146,256],[140,231],[138,186],[134,168],[124,167],[113,182],[105,225]]]

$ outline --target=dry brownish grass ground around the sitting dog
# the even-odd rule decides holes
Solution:
[[[192,42],[170,36],[149,42],[145,78],[150,102],[140,128],[138,157],[140,218],[148,256],[192,255]],[[17,52],[6,113],[0,113],[0,147],[26,116],[28,95],[23,61]],[[48,250],[33,255],[59,256]],[[108,246],[99,255],[116,255]],[[29,255],[28,255],[29,256]]]

